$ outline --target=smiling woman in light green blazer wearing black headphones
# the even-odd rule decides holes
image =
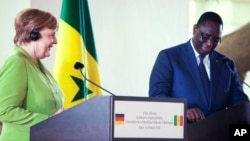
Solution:
[[[40,62],[57,43],[57,27],[38,9],[16,16],[15,47],[0,70],[0,141],[29,141],[31,126],[63,111],[63,93]]]

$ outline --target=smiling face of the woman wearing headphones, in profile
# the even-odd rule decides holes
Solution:
[[[41,37],[35,41],[34,55],[37,59],[43,59],[50,56],[50,49],[57,44],[56,31],[54,29],[45,28],[39,31]]]

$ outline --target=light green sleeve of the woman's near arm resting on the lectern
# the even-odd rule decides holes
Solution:
[[[18,56],[8,58],[0,70],[0,121],[30,127],[48,118],[23,108],[27,81],[25,62]]]

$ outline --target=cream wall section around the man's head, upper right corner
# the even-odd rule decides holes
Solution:
[[[224,22],[223,35],[250,22],[250,0],[190,0],[190,24],[204,11],[218,12]]]

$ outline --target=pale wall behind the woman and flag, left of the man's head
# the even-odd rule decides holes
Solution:
[[[13,31],[12,23],[17,11],[29,7],[29,3],[22,3],[24,0],[7,1],[6,4],[1,0],[4,6],[0,4],[0,9],[8,7],[3,11],[8,15],[0,17],[7,23],[1,22],[1,28],[6,32]],[[30,5],[59,17],[61,1],[30,0]],[[14,10],[9,11],[10,7]],[[89,7],[102,86],[117,95],[147,96],[148,79],[157,53],[189,38],[188,1],[89,0]],[[0,31],[1,39],[4,37],[0,47],[5,50],[0,54],[2,65],[6,53],[13,47],[13,32],[5,36]],[[54,51],[50,58],[43,60],[51,71]]]

